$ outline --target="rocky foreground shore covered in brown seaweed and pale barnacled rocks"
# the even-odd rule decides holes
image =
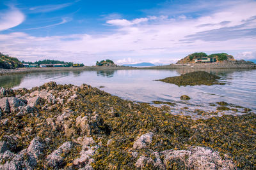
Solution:
[[[224,104],[225,105],[225,104]],[[192,120],[83,84],[0,90],[0,169],[252,169],[256,115]]]

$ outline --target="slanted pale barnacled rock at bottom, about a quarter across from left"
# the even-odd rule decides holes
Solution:
[[[63,164],[65,164],[64,162],[65,155],[68,152],[70,152],[71,149],[72,149],[72,143],[70,141],[63,143],[58,148],[58,150],[54,150],[54,152],[52,152],[50,155],[46,157],[47,165],[54,169],[60,168],[61,166],[63,166]]]

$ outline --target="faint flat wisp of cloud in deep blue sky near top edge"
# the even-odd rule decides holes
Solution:
[[[67,6],[72,5],[73,3],[65,3],[65,4],[49,4],[49,5],[42,5],[42,6],[35,6],[29,8],[31,13],[45,13],[60,10],[62,8],[66,8]]]

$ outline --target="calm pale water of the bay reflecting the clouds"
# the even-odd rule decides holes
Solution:
[[[256,70],[235,71],[232,69],[214,69],[209,73],[221,76],[220,81],[226,85],[178,87],[170,83],[154,81],[169,76],[179,76],[188,70],[108,70],[108,71],[63,71],[57,73],[29,73],[0,76],[0,87],[30,89],[49,81],[60,84],[81,85],[86,83],[92,87],[104,86],[102,90],[123,99],[152,103],[152,101],[170,101],[179,103],[180,107],[189,104],[194,108],[214,110],[209,103],[225,101],[251,108],[256,111]],[[180,101],[186,94],[189,101]]]

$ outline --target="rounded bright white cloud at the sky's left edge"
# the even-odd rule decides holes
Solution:
[[[25,20],[25,15],[14,7],[0,12],[0,31],[16,27]]]

